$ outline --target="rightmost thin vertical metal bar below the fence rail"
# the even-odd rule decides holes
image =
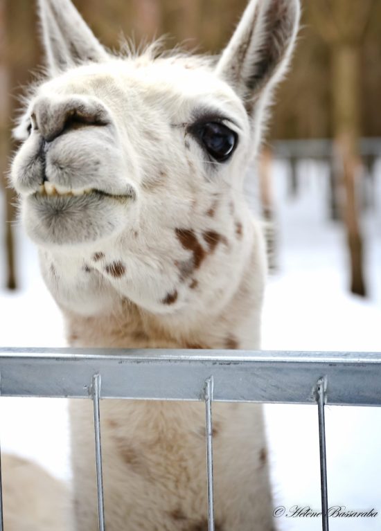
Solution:
[[[317,411],[319,415],[319,447],[320,447],[320,483],[321,483],[321,520],[323,531],[329,530],[328,524],[328,488],[327,488],[327,460],[326,460],[326,422],[324,418],[324,404],[326,403],[326,377],[317,381]]]

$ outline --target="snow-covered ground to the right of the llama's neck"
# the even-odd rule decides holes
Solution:
[[[328,221],[328,179],[319,165],[299,165],[299,197],[286,199],[285,165],[274,187],[280,231],[279,273],[269,282],[263,317],[268,350],[381,352],[381,164],[373,190],[378,211],[363,220],[369,298],[348,294],[345,234]],[[326,176],[327,177],[327,176]],[[314,406],[268,405],[275,505],[321,507]],[[381,408],[326,408],[329,505],[374,509],[375,518],[330,518],[330,530],[381,529]],[[280,530],[321,530],[319,518],[281,517]]]

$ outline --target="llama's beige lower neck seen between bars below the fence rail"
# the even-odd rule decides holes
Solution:
[[[100,413],[107,530],[206,531],[204,404],[109,400]],[[76,531],[96,531],[91,403],[72,401],[71,426]],[[271,530],[260,406],[214,404],[213,435],[216,531]]]

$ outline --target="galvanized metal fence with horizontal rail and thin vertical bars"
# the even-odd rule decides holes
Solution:
[[[209,531],[214,531],[213,402],[316,404],[322,529],[328,531],[324,407],[381,406],[381,353],[0,348],[0,391],[3,397],[92,399],[100,531],[105,531],[101,398],[205,402]],[[0,511],[2,531],[2,502]]]

